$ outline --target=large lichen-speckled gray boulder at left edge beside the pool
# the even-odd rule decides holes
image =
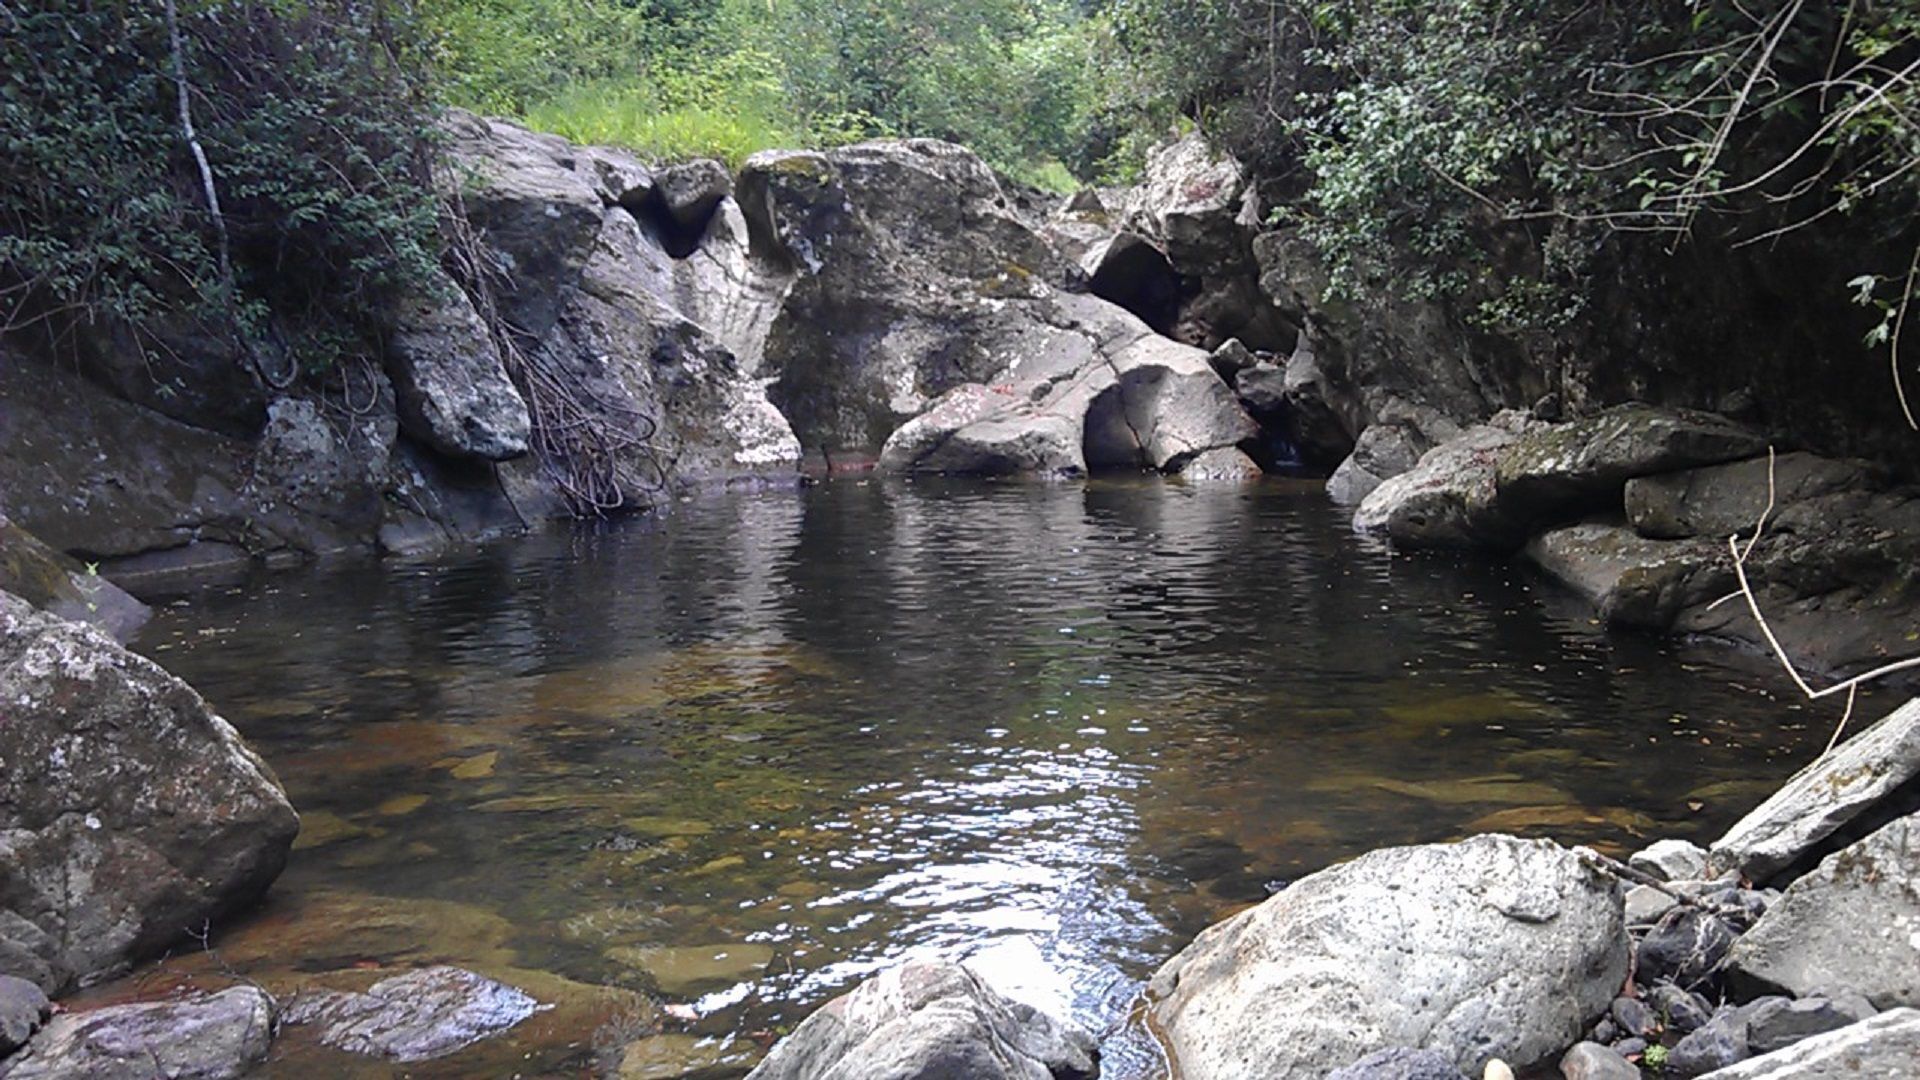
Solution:
[[[0,594],[0,972],[123,970],[255,899],[300,819],[184,682]]]

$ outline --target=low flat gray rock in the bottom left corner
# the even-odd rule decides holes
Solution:
[[[273,1040],[273,997],[236,986],[207,997],[63,1013],[0,1063],[4,1080],[228,1080]]]

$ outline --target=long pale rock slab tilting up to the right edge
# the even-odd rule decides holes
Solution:
[[[1713,865],[1764,882],[1920,774],[1920,701],[1834,748],[1793,774],[1713,842]]]

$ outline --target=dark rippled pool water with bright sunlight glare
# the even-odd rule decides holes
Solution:
[[[1832,721],[1757,661],[1611,636],[1517,567],[1394,557],[1283,482],[710,496],[207,586],[138,648],[305,815],[252,920],[271,947],[228,928],[223,965],[691,1005],[561,1032],[528,1074],[662,1024],[707,1036],[666,1057],[751,1057],[902,955],[983,953],[1104,1032],[1108,1076],[1154,1076],[1140,982],[1279,882],[1478,830],[1705,840]]]

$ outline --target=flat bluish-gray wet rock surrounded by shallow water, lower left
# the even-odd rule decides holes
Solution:
[[[495,1036],[540,1011],[540,1001],[457,967],[384,978],[365,994],[313,994],[294,1001],[288,1024],[323,1024],[321,1042],[388,1061],[430,1061]]]

